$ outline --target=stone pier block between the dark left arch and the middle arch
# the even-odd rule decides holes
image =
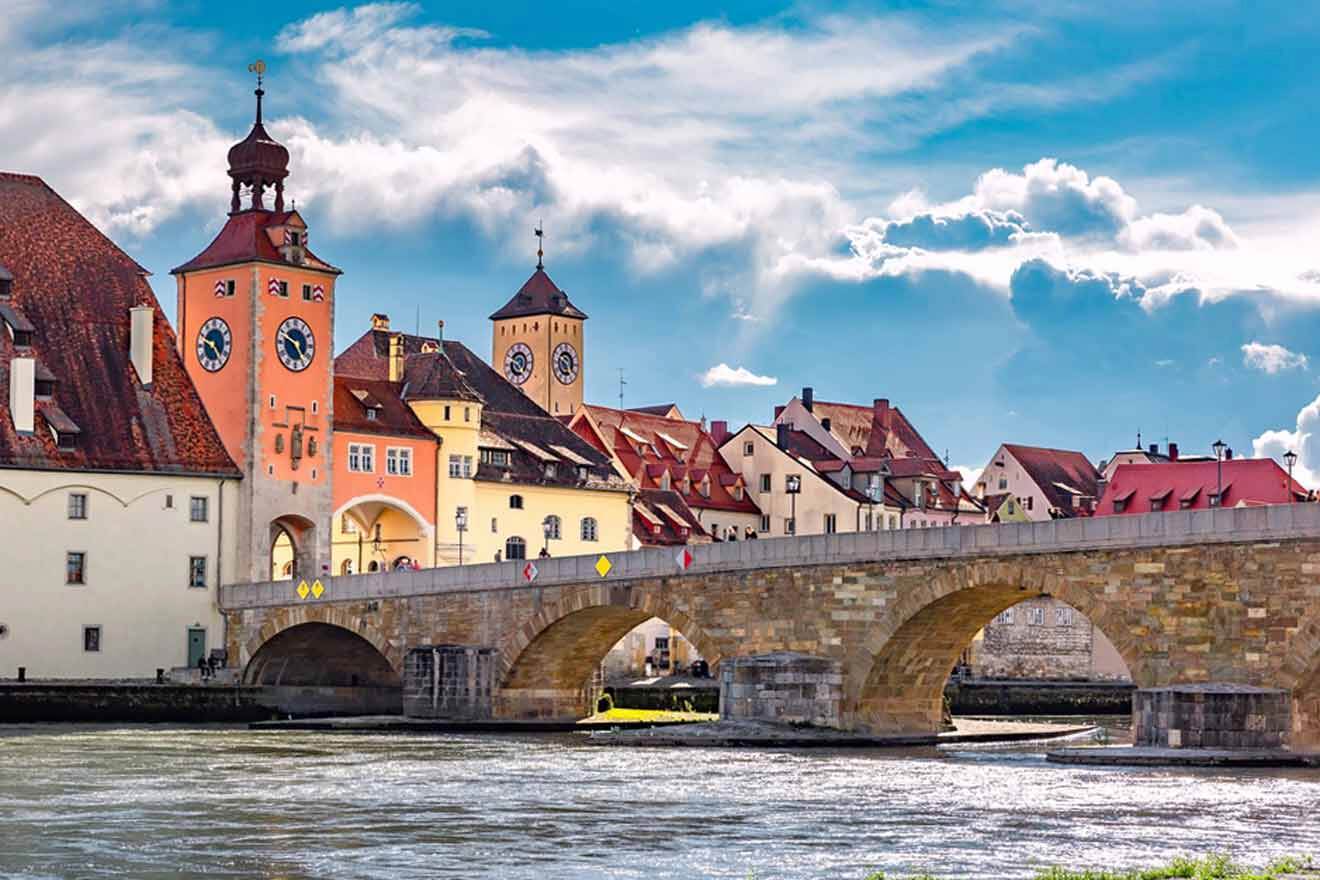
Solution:
[[[477,720],[494,712],[499,652],[422,645],[404,657],[404,715]]]

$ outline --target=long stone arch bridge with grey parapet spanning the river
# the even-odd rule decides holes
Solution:
[[[492,649],[498,718],[579,718],[632,627],[663,617],[711,666],[799,652],[840,664],[843,727],[929,732],[977,631],[1039,595],[1085,613],[1139,686],[1284,687],[1320,734],[1320,504],[710,544],[227,586],[251,683],[397,689],[411,649]],[[397,690],[395,690],[397,705]]]

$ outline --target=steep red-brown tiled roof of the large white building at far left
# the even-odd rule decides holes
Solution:
[[[147,270],[37,177],[0,173],[0,264],[13,274],[13,305],[36,327],[29,351],[57,379],[54,398],[37,401],[37,430],[18,435],[8,394],[16,352],[0,334],[0,467],[239,476]],[[156,310],[149,388],[128,351],[136,305]],[[81,429],[71,450],[55,449],[46,430],[61,414]]]

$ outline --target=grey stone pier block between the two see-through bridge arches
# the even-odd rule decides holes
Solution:
[[[837,660],[793,652],[727,657],[719,683],[721,719],[841,726],[843,672]]]

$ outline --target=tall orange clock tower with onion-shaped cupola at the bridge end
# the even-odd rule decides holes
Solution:
[[[256,121],[228,153],[224,228],[173,269],[178,346],[220,439],[243,471],[239,578],[312,581],[330,561],[330,408],[339,269],[308,245],[284,203],[289,150]],[[267,204],[268,193],[273,203]]]

